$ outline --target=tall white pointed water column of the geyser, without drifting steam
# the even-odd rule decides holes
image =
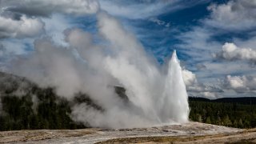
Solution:
[[[160,105],[162,105],[162,110],[160,110],[162,122],[188,122],[190,113],[188,95],[176,50],[174,50],[168,65],[168,73]]]

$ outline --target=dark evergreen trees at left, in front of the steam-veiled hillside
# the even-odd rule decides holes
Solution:
[[[56,97],[52,89],[43,89],[36,93],[38,94],[38,106],[34,108],[31,95],[21,98],[10,95],[2,97],[0,130],[79,129],[86,127],[71,120],[71,103]]]

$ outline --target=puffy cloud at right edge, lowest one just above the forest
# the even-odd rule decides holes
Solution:
[[[235,90],[238,93],[256,90],[256,78],[254,76],[231,76],[227,75],[224,82],[227,89]]]

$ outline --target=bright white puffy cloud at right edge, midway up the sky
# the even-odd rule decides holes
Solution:
[[[223,58],[229,61],[232,60],[246,60],[249,62],[256,62],[256,50],[251,48],[240,48],[234,43],[226,42],[222,46],[222,51],[214,54],[214,57]]]

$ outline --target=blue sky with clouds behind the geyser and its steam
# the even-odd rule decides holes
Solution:
[[[69,28],[85,30],[95,43],[104,43],[97,30],[100,10],[117,18],[160,64],[177,50],[190,95],[255,96],[256,0],[85,0],[88,10],[80,10],[79,0],[70,11],[69,3],[58,2],[58,9],[43,10],[41,5],[53,4],[34,0],[24,6],[0,0],[2,70],[8,70],[13,58],[33,53],[36,38],[50,36],[66,45],[62,32]]]

